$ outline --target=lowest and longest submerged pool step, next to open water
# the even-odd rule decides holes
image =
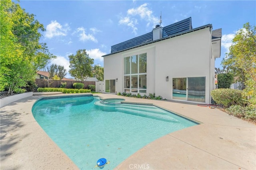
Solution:
[[[176,119],[173,119],[170,117],[170,115],[162,115],[162,114],[157,114],[157,113],[150,113],[147,111],[141,111],[138,109],[128,109],[128,108],[116,108],[117,111],[123,112],[123,113],[128,113],[132,115],[138,115],[142,117],[148,117],[152,119],[158,119],[162,121],[168,121],[168,122],[178,122]]]

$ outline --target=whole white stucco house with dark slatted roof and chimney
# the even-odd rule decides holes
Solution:
[[[210,104],[221,29],[192,28],[191,18],[113,45],[104,55],[105,93],[155,93],[167,100]]]

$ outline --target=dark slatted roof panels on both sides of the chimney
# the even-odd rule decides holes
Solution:
[[[171,25],[167,25],[166,27],[163,27],[162,37],[168,37],[168,36],[174,35],[176,33],[188,31],[190,29],[192,29],[191,17],[187,18],[185,20],[178,21]],[[114,53],[116,51],[121,51],[123,49],[127,49],[130,47],[134,47],[136,45],[140,45],[142,43],[146,43],[149,41],[153,41],[153,32],[152,31],[150,33],[146,33],[144,35],[140,35],[133,39],[130,39],[130,40],[124,41],[122,43],[118,43],[116,45],[111,46],[111,53]]]

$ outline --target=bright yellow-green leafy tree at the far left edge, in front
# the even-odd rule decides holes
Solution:
[[[18,16],[10,12],[12,6],[10,0],[0,1],[0,90],[7,88],[10,94],[17,88],[26,86],[26,75],[31,69],[24,56],[24,47],[18,43],[18,38],[13,33],[13,18]]]

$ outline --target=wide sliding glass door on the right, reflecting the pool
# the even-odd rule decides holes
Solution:
[[[205,77],[172,78],[172,99],[205,103]]]

